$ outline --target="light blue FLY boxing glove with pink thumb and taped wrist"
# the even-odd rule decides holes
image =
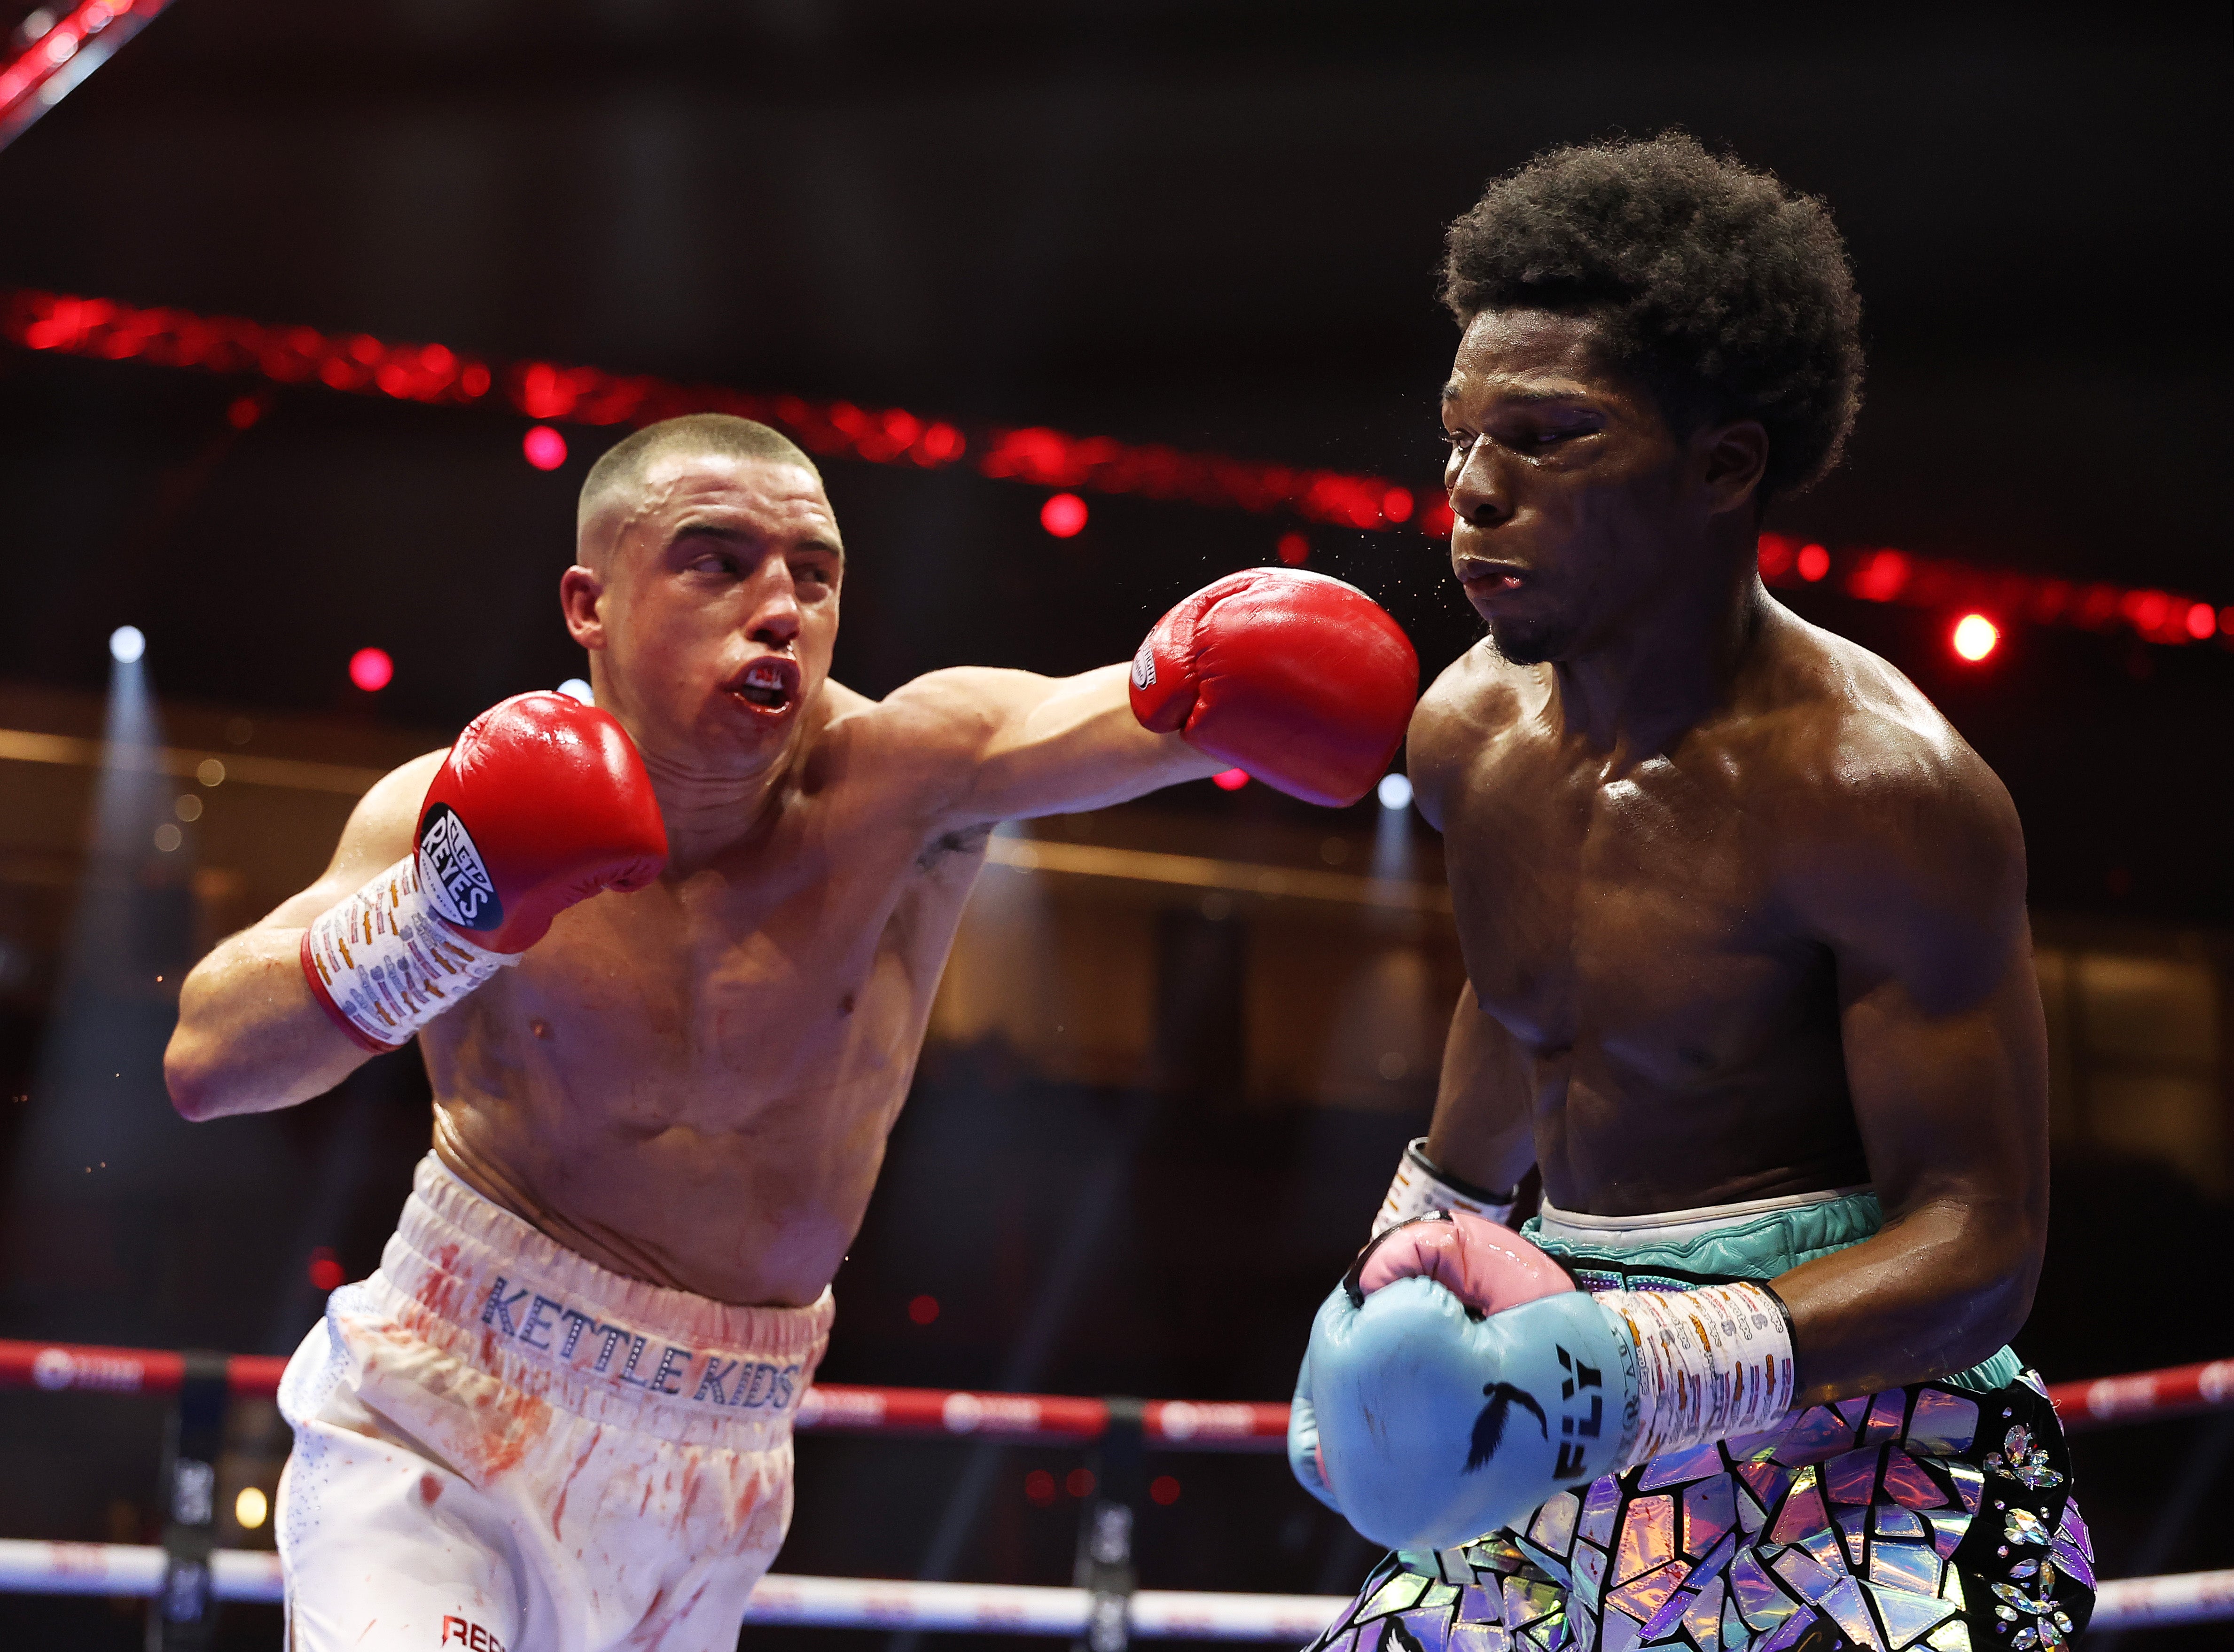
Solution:
[[[1302,1415],[1323,1496],[1361,1534],[1450,1549],[1789,1404],[1789,1328],[1767,1290],[1588,1297],[1519,1234],[1436,1214],[1367,1245],[1320,1306],[1289,1460],[1302,1478]]]

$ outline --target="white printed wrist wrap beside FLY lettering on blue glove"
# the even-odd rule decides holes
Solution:
[[[1760,1285],[1608,1290],[1595,1301],[1638,1346],[1629,1462],[1758,1433],[1792,1411],[1792,1323]]]

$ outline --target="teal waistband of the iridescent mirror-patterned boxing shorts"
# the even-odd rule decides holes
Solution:
[[[1812,1205],[1736,1214],[1727,1225],[1680,1238],[1646,1234],[1546,1234],[1544,1218],[1530,1216],[1521,1234],[1573,1268],[1586,1288],[1680,1290],[1729,1279],[1776,1279],[1816,1256],[1859,1245],[1885,1225],[1877,1194],[1843,1194]],[[2017,1379],[2024,1361],[2011,1348],[1941,1377],[1955,1388],[1990,1393]]]

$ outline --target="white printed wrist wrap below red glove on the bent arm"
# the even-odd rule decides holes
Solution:
[[[474,946],[436,917],[420,890],[418,854],[407,854],[346,901],[317,914],[302,937],[313,990],[360,1044],[407,1044],[518,952]]]

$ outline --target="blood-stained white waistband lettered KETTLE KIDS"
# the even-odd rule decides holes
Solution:
[[[433,1153],[369,1285],[478,1370],[579,1415],[668,1408],[789,1422],[836,1308],[742,1308],[599,1268],[458,1180]]]

